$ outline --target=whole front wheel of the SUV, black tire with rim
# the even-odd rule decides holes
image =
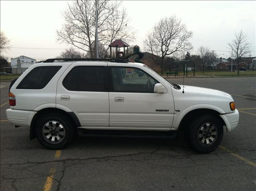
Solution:
[[[185,130],[188,146],[198,153],[214,151],[220,145],[222,138],[223,125],[218,117],[210,114],[198,117]]]

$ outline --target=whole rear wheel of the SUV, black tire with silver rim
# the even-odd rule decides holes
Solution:
[[[43,115],[36,124],[36,137],[47,149],[64,149],[71,143],[73,135],[74,125],[58,113]]]

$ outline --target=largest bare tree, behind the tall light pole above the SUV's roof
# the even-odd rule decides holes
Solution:
[[[134,39],[134,28],[130,24],[126,10],[120,10],[122,2],[110,0],[76,0],[68,4],[68,9],[62,13],[64,24],[57,30],[57,40],[80,48],[96,57],[95,36],[95,6],[98,7],[98,42],[108,46],[114,39]]]

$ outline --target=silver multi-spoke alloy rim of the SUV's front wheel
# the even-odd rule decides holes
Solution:
[[[204,123],[199,128],[197,133],[198,141],[204,147],[208,147],[212,145],[216,141],[217,135],[218,135],[217,127],[210,122]]]

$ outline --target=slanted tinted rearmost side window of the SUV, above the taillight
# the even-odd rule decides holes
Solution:
[[[16,89],[43,89],[60,70],[61,66],[39,66],[31,70]]]

